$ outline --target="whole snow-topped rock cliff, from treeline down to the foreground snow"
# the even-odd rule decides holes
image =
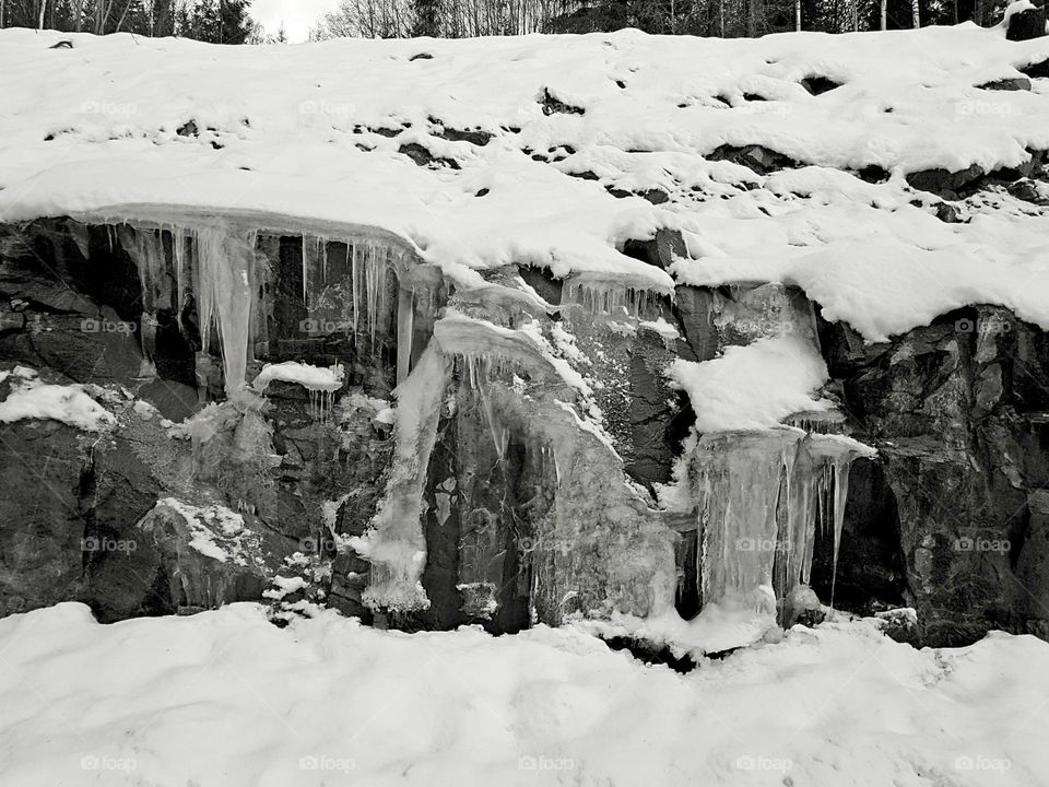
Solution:
[[[0,32],[0,614],[1046,636],[1032,19]]]

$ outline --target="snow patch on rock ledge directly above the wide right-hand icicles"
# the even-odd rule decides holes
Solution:
[[[688,395],[699,432],[770,428],[788,415],[834,407],[813,397],[827,381],[826,364],[810,342],[791,334],[730,346],[702,363],[679,359],[669,376]]]

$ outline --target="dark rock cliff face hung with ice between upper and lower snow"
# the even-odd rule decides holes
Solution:
[[[926,643],[1049,632],[1049,338],[1007,310],[870,344],[782,285],[632,294],[507,267],[468,290],[375,238],[261,230],[240,309],[240,374],[258,380],[237,389],[237,309],[201,329],[205,247],[180,233],[3,227],[0,397],[28,367],[113,414],[0,424],[3,614],[76,599],[116,621],[266,594],[505,632],[687,619],[730,590],[761,607],[747,583],[766,577],[780,622],[811,586],[861,613],[914,606]],[[636,249],[662,265],[675,243]],[[689,435],[665,369],[785,326],[820,349],[835,410]],[[318,385],[303,364],[341,369]],[[842,449],[847,433],[876,456]]]

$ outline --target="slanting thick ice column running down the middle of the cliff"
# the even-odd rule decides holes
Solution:
[[[437,421],[451,377],[451,360],[431,346],[394,390],[393,467],[379,510],[364,536],[349,544],[372,564],[364,600],[374,609],[426,609],[420,583],[426,562],[423,485],[437,434]]]

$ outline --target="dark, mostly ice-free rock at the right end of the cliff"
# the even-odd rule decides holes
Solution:
[[[1049,610],[1037,599],[1049,565],[1032,532],[1049,480],[1049,338],[989,307],[887,344],[864,345],[840,325],[822,338],[858,436],[884,463],[873,490],[851,490],[849,510],[873,515],[871,497],[885,500],[923,641],[1044,632]]]

